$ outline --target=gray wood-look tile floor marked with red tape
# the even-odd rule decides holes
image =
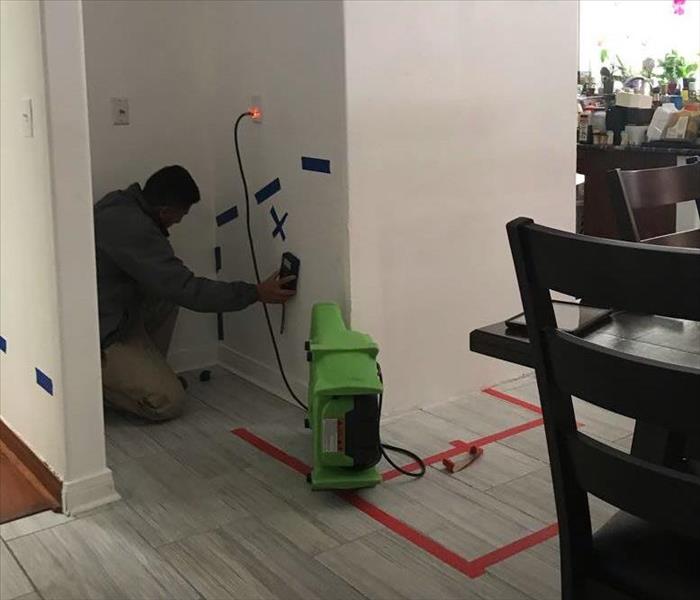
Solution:
[[[298,409],[212,371],[208,383],[188,377],[189,404],[176,421],[107,414],[121,501],[0,527],[0,600],[559,597],[556,537],[470,578],[335,494],[311,492],[299,473],[233,435],[246,427],[311,462]],[[531,377],[497,389],[538,402]],[[583,403],[577,411],[590,435],[629,448],[629,420]],[[430,455],[537,417],[479,392],[388,418],[382,431]],[[459,474],[436,463],[421,480],[396,478],[359,496],[469,560],[555,521],[541,427],[487,445]],[[592,499],[591,514],[598,525],[612,509]]]

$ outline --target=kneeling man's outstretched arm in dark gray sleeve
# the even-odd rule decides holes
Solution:
[[[241,310],[258,300],[253,284],[196,277],[155,223],[130,210],[112,211],[96,224],[97,245],[150,294],[198,312]]]

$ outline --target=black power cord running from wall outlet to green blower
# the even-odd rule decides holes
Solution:
[[[252,117],[253,113],[250,111],[246,111],[242,113],[241,115],[238,116],[236,119],[236,124],[234,125],[233,128],[233,141],[236,147],[236,159],[238,160],[238,169],[241,173],[241,181],[243,182],[243,192],[245,195],[245,224],[246,224],[246,230],[248,232],[248,244],[250,246],[250,257],[253,260],[253,268],[255,269],[255,279],[258,283],[261,282],[260,279],[260,269],[258,268],[258,258],[255,253],[255,242],[253,240],[253,232],[250,227],[250,194],[248,192],[248,181],[245,177],[245,171],[243,170],[243,161],[241,160],[241,150],[238,145],[238,126],[240,125],[241,121],[245,119],[246,117]],[[284,309],[284,305],[282,305],[282,308]],[[287,391],[291,395],[292,398],[294,398],[294,401],[304,410],[308,411],[308,407],[306,404],[304,404],[301,400],[299,400],[299,397],[294,393],[294,390],[292,389],[292,386],[289,384],[289,380],[287,379],[287,374],[285,373],[284,370],[284,364],[282,363],[282,357],[280,356],[280,351],[279,347],[277,346],[277,338],[275,337],[275,331],[272,327],[272,320],[270,319],[270,311],[267,308],[267,304],[263,302],[263,310],[265,311],[265,320],[267,321],[267,328],[270,332],[270,339],[272,340],[272,347],[275,350],[275,358],[277,359],[277,366],[279,367],[280,370],[280,375],[282,375],[282,380],[284,381],[284,385],[287,388]],[[283,318],[284,318],[284,313],[283,313]],[[282,328],[284,328],[284,320],[282,321]],[[384,383],[384,378],[382,376],[382,369],[379,366],[379,363],[377,363],[377,373],[379,375],[379,380]],[[382,415],[382,402],[384,399],[384,394],[381,393],[379,394],[379,417],[381,418]],[[409,477],[423,477],[425,475],[425,463],[423,462],[423,459],[415,454],[414,452],[411,452],[410,450],[406,450],[406,448],[399,448],[398,446],[392,446],[390,444],[383,444],[380,441],[380,446],[382,449],[382,456],[387,460],[387,462],[394,467],[397,471],[400,473],[403,473],[404,475],[408,475]],[[397,465],[391,458],[389,458],[389,455],[387,454],[387,450],[391,452],[396,452],[398,454],[403,454],[404,456],[408,456],[409,458],[412,458],[415,462],[417,462],[420,465],[420,471],[417,473],[414,473],[413,471],[408,471],[406,469],[403,469],[399,465]]]

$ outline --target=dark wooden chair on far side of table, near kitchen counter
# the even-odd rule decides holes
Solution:
[[[700,162],[641,171],[614,169],[608,171],[608,187],[622,240],[640,242],[649,237],[639,230],[635,217],[639,211],[695,200],[700,214]]]

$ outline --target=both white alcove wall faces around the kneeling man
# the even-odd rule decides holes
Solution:
[[[173,242],[200,275],[216,276],[218,244],[219,279],[254,279],[233,122],[262,95],[264,122],[244,122],[241,143],[251,194],[275,178],[282,184],[260,206],[252,198],[261,271],[277,269],[285,250],[302,260],[280,345],[303,394],[312,302],[349,304],[342,3],[90,1],[84,13],[95,197],[143,182],[164,164],[186,166],[203,202]],[[130,126],[111,125],[112,96],[129,98]],[[330,159],[332,174],[302,171],[302,155]],[[216,214],[232,205],[239,218],[216,228]],[[272,237],[272,206],[280,217],[289,212],[286,243]],[[279,310],[272,312],[278,326]],[[227,314],[219,358],[281,392],[265,327],[260,305]],[[211,364],[217,345],[214,315],[181,314],[170,361]]]

